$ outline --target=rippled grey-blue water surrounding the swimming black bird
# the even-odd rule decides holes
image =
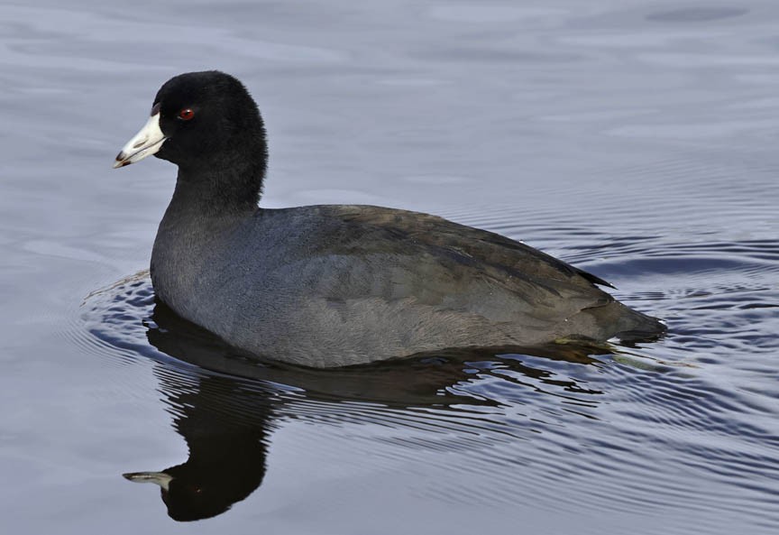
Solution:
[[[779,531],[777,23],[752,0],[0,5],[0,525]],[[260,103],[264,206],[481,226],[669,335],[331,371],[235,355],[143,271],[174,169],[109,169],[160,83],[205,68]],[[167,507],[122,477],[162,470]]]

